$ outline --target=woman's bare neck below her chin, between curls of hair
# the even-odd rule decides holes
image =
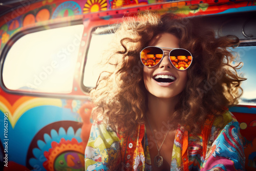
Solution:
[[[175,112],[175,106],[179,101],[179,96],[173,98],[158,98],[148,93],[147,117],[154,129],[159,130],[163,125],[170,125],[170,116]]]

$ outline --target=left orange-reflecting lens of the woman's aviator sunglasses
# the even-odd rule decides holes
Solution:
[[[154,67],[163,57],[163,51],[157,47],[147,47],[140,53],[140,58],[144,66]]]

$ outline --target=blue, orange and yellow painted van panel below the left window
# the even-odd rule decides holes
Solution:
[[[84,170],[84,142],[92,124],[90,102],[24,96],[13,104],[3,96],[0,101],[1,116],[8,116],[6,135],[1,135],[1,144],[8,146],[0,152],[8,154],[5,170]],[[0,127],[4,130],[3,124]]]

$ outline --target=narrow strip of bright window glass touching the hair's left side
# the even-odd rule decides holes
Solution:
[[[99,63],[102,54],[108,49],[113,38],[113,33],[109,32],[110,27],[98,27],[91,33],[90,47],[87,54],[86,66],[84,68],[83,84],[87,88],[94,88],[102,72]]]

